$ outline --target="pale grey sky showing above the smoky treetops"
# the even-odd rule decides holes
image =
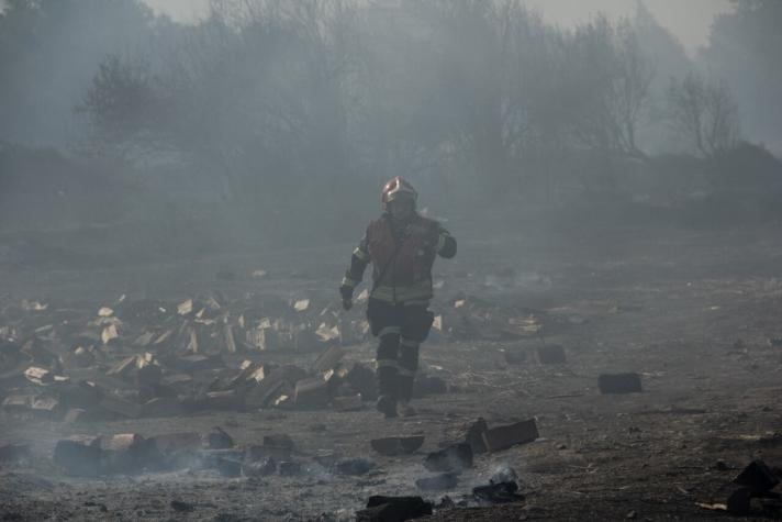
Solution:
[[[209,0],[144,0],[157,12],[179,22],[194,22],[206,13]],[[545,20],[570,27],[597,12],[612,18],[632,15],[636,0],[526,0]],[[692,55],[705,45],[714,16],[730,11],[729,0],[645,0],[661,25],[675,35]]]

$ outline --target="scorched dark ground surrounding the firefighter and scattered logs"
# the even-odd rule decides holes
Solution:
[[[345,330],[354,322],[354,336],[343,332],[342,365],[371,363],[361,307],[348,313],[336,308],[348,244],[89,271],[4,265],[3,349],[18,348],[19,356],[3,359],[10,366],[0,385],[0,446],[25,444],[30,453],[0,463],[3,519],[351,520],[372,495],[421,495],[435,503],[433,520],[733,520],[719,504],[737,489],[731,480],[738,473],[753,459],[782,466],[782,347],[774,341],[782,337],[782,248],[775,229],[529,230],[491,240],[451,229],[459,255],[438,262],[435,275],[444,281],[433,303],[442,331],[422,353],[423,371],[448,391],[425,395],[417,417],[394,420],[381,419],[370,402],[358,411],[303,408],[292,397],[252,409],[233,399],[204,402],[208,390],[230,389],[225,382],[243,360],[310,369],[338,343],[325,330],[295,342],[290,327],[300,324],[314,334],[321,323]],[[260,269],[266,273],[253,275]],[[189,299],[192,310],[178,310]],[[301,299],[310,302],[298,312]],[[99,316],[101,307],[112,313]],[[197,318],[201,308],[206,311]],[[104,344],[100,335],[111,318],[119,321],[119,337]],[[246,335],[262,318],[282,321],[279,343],[267,351],[253,348]],[[197,319],[230,324],[236,352],[227,348],[223,329]],[[134,346],[147,331],[159,338],[169,325],[176,330],[170,342]],[[197,347],[188,329],[197,332]],[[88,348],[85,331],[92,332],[96,352],[76,367],[70,352],[79,343]],[[540,363],[539,348],[551,345],[563,347],[565,363]],[[177,366],[188,349],[220,359],[191,371]],[[105,376],[124,357],[145,353],[178,393],[175,415],[148,417],[141,408],[147,398],[138,391],[141,359],[129,374]],[[46,354],[56,360],[42,360]],[[20,377],[31,366],[49,371],[44,384],[32,382],[32,374]],[[617,373],[638,374],[643,391],[601,393],[599,376]],[[187,384],[166,380],[177,374],[189,376]],[[64,386],[53,381],[56,375],[69,377],[69,385],[96,382],[137,408],[130,414],[108,412],[105,404],[85,408],[86,420],[66,422],[65,404],[36,409],[9,400],[56,398],[52,392]],[[286,393],[291,390],[282,388]],[[478,418],[490,427],[534,418],[539,437],[476,454],[455,487],[417,489],[416,479],[435,475],[423,466],[426,454],[462,442]],[[264,446],[265,436],[287,434],[294,447],[278,460],[298,463],[300,471],[287,468],[292,475],[284,476],[278,467],[248,476],[246,466],[226,477],[221,469],[235,470],[205,462],[200,438],[190,460],[164,469],[146,463],[132,473],[103,468],[80,477],[53,459],[57,442],[75,435],[148,440],[205,435],[214,426],[243,451],[226,457],[228,467],[246,459],[246,448]],[[370,440],[391,435],[425,438],[410,455],[383,456],[370,447]],[[338,466],[349,459],[358,460]],[[507,468],[516,471],[524,500],[479,506],[472,488]],[[752,502],[761,517],[759,501]]]

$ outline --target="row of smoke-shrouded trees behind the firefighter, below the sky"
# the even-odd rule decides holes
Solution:
[[[774,4],[737,2],[712,41]],[[80,152],[179,162],[239,206],[398,174],[490,196],[610,190],[617,165],[742,137],[727,69],[697,67],[643,2],[565,30],[521,0],[213,0],[196,25],[138,0],[11,0],[0,115],[19,119],[16,84],[53,66],[27,46],[65,43],[88,55],[60,64],[78,81],[36,88],[72,91]]]

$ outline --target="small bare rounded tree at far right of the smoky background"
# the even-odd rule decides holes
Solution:
[[[691,71],[681,80],[671,80],[667,101],[672,129],[697,154],[713,157],[736,147],[738,108],[724,81],[705,80]]]

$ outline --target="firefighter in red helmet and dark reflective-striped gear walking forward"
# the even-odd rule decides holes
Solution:
[[[372,263],[367,319],[379,338],[377,408],[386,418],[415,414],[410,400],[418,347],[434,320],[428,310],[432,265],[437,255],[456,255],[456,240],[439,223],[420,215],[416,200],[415,189],[402,177],[383,186],[383,213],[369,223],[339,287],[343,308],[349,310],[354,290]]]

